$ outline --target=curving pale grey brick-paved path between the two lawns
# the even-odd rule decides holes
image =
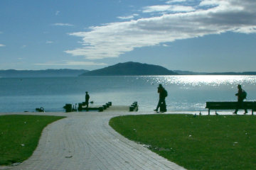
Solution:
[[[11,169],[183,169],[112,130],[110,118],[127,112],[44,114],[68,118],[48,125],[32,157]]]

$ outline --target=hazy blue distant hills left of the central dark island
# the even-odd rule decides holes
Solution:
[[[0,70],[0,77],[78,77],[85,69]]]

